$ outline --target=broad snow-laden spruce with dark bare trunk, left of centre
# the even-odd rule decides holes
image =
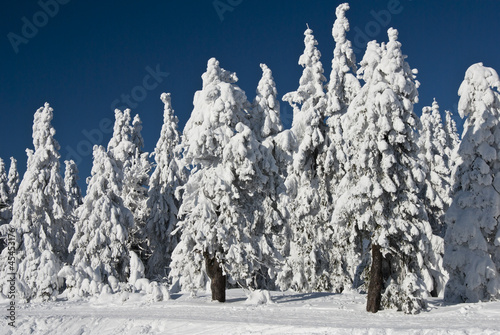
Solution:
[[[236,74],[212,58],[202,79],[182,136],[184,164],[191,173],[183,186],[181,237],[170,277],[193,292],[205,287],[208,276],[212,298],[225,301],[226,276],[245,284],[260,266],[261,250],[252,244],[250,199],[265,178],[255,163],[259,145],[246,125],[250,104],[235,85]]]

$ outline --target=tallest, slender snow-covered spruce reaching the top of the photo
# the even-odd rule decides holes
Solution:
[[[332,72],[326,88],[326,131],[325,142],[322,145],[318,157],[318,174],[326,183],[327,197],[322,199],[322,206],[328,208],[328,213],[333,212],[336,199],[339,197],[338,184],[345,174],[345,165],[348,154],[345,152],[345,141],[341,124],[341,117],[347,111],[354,97],[360,90],[358,79],[353,73],[356,72],[356,59],[351,47],[351,42],[346,38],[349,31],[349,22],[345,16],[349,10],[347,3],[340,4],[336,9],[337,19],[333,24],[332,35],[335,41],[333,51]],[[326,240],[328,259],[330,261],[330,283],[331,289],[341,292],[345,288],[352,287],[354,269],[347,269],[346,258],[352,258],[346,241],[343,238],[341,226],[328,217],[327,222],[331,226],[328,230],[329,238]],[[350,232],[347,232],[350,235]],[[352,243],[349,243],[352,244]],[[357,263],[357,262],[356,262]],[[357,265],[356,265],[357,266]]]

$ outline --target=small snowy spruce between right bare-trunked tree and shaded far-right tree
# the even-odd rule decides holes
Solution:
[[[446,153],[447,134],[443,129],[436,100],[432,103],[432,107],[422,108],[420,122],[419,157],[426,173],[422,198],[432,232],[444,237],[446,231],[444,214],[451,203],[449,178],[451,170]]]

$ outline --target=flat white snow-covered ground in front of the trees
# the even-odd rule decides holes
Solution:
[[[228,291],[227,302],[208,294],[172,295],[152,302],[130,294],[81,301],[19,305],[17,329],[1,334],[499,334],[500,302],[444,305],[429,301],[428,311],[364,311],[365,295],[271,292],[272,303],[257,304],[245,291]],[[122,301],[126,300],[126,301]],[[5,311],[5,304],[1,309]]]

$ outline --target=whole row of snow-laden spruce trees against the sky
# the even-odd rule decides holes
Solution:
[[[208,60],[181,132],[172,97],[152,153],[142,123],[116,110],[95,146],[85,196],[46,103],[33,122],[26,172],[0,159],[0,294],[9,256],[24,301],[182,290],[367,293],[367,311],[418,313],[426,298],[500,298],[500,79],[472,65],[459,88],[457,134],[436,100],[418,117],[417,70],[398,31],[357,63],[336,10],[332,71],[304,33],[284,129],[271,69],[249,101],[235,73]],[[15,241],[8,232],[15,231]]]

